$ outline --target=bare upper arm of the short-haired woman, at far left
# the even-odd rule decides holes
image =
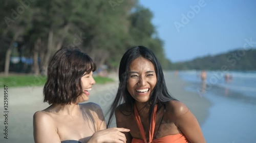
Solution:
[[[33,116],[33,128],[35,143],[60,143],[60,138],[55,125],[47,113],[42,111],[35,112]]]

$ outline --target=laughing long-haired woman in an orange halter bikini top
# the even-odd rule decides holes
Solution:
[[[119,66],[119,87],[108,126],[116,117],[126,142],[205,142],[189,108],[170,96],[155,54],[144,46],[127,50]]]

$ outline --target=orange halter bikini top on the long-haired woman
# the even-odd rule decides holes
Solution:
[[[151,142],[154,142],[154,143],[162,143],[162,142],[187,143],[188,142],[183,133],[174,134],[174,135],[166,135],[161,138],[156,138],[153,140],[155,125],[156,125],[156,112],[157,112],[157,105],[155,106],[154,111],[153,111],[152,122],[151,122],[152,129],[149,131],[149,141],[147,142],[145,131],[144,131],[143,125],[141,123],[138,110],[134,104],[135,120],[136,120],[137,126],[140,129],[140,133],[143,137],[143,140],[138,139],[138,138],[133,138],[132,143],[151,143]],[[160,123],[160,125],[161,125],[161,123]]]

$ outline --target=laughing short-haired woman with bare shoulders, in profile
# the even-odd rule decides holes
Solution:
[[[126,142],[122,132],[110,128],[99,105],[89,102],[96,65],[78,48],[61,48],[48,66],[44,102],[50,106],[33,117],[35,143]]]

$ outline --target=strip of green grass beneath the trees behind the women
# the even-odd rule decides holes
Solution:
[[[104,84],[114,81],[109,77],[94,77],[96,84]],[[46,76],[33,76],[33,75],[16,75],[8,77],[0,77],[0,87],[7,85],[8,87],[37,87],[45,85],[47,80]]]

